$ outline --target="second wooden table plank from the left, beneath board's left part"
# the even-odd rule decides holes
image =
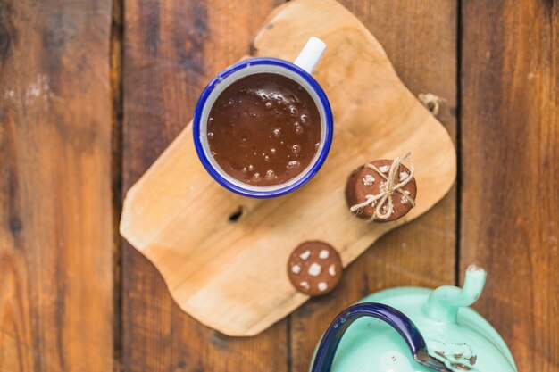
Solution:
[[[188,123],[207,81],[249,52],[251,37],[278,3],[125,2],[124,190]],[[179,310],[156,269],[129,244],[122,273],[125,370],[286,370],[285,321],[254,338],[229,338]]]

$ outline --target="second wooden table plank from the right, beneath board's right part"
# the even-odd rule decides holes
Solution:
[[[438,119],[455,137],[456,2],[341,3],[379,39],[413,94],[429,92],[446,99]],[[364,295],[390,286],[455,283],[455,194],[453,187],[426,215],[374,244],[346,269],[333,293],[296,310],[290,318],[291,370],[308,368],[330,320]]]

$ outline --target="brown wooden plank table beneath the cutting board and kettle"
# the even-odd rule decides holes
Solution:
[[[559,3],[343,0],[414,94],[446,99],[459,178],[330,295],[263,334],[200,326],[118,235],[122,194],[279,0],[0,1],[0,371],[305,371],[338,310],[459,284],[519,371],[559,370]]]

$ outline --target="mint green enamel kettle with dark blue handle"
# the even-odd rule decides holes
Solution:
[[[463,288],[371,294],[330,324],[311,372],[516,372],[501,336],[468,307],[485,279],[485,270],[471,265]]]

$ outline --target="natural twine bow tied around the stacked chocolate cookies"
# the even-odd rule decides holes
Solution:
[[[413,168],[413,161],[410,160],[411,154],[412,153],[410,152],[405,153],[404,156],[400,156],[396,158],[395,161],[392,161],[392,165],[390,166],[390,170],[388,172],[388,177],[386,177],[384,175],[384,172],[380,171],[380,169],[378,169],[374,165],[370,163],[365,164],[364,165],[365,168],[373,169],[375,172],[377,172],[380,175],[380,177],[384,178],[387,182],[384,185],[380,186],[379,194],[365,195],[365,201],[363,203],[353,205],[349,209],[349,211],[351,212],[359,211],[366,206],[375,205],[375,203],[377,203],[377,201],[380,200],[380,202],[377,203],[377,208],[375,208],[374,213],[372,213],[371,220],[388,219],[388,217],[390,217],[392,215],[392,212],[394,211],[394,202],[392,200],[392,196],[396,192],[401,194],[402,197],[405,198],[405,200],[408,203],[412,204],[412,206],[415,206],[415,201],[413,200],[413,198],[410,197],[410,195],[405,194],[405,192],[402,190],[402,187],[407,185],[413,178],[413,172],[415,169]],[[400,164],[402,164],[403,161],[408,161],[410,163],[410,174],[401,182],[396,184],[396,177],[399,178],[398,169],[400,168]],[[383,205],[385,203],[388,203],[388,208],[386,207],[383,208]]]

